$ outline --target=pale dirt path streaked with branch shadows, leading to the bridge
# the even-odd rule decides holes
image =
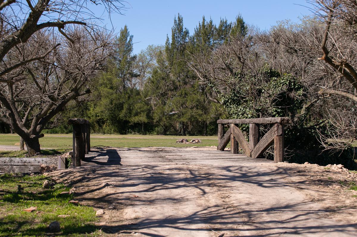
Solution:
[[[194,159],[194,158],[193,158]],[[144,162],[145,163],[145,162]],[[113,236],[356,236],[353,175],[315,165],[112,165],[56,171]],[[332,189],[331,189],[332,187]]]

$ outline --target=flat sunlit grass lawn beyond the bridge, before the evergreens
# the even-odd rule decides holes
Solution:
[[[202,143],[179,144],[177,139],[201,139]],[[14,146],[19,144],[20,137],[16,134],[0,134],[0,145]],[[72,134],[45,134],[40,138],[43,148],[72,148]],[[217,136],[157,136],[157,135],[101,135],[91,134],[91,146],[111,147],[187,147],[187,146],[217,146]]]

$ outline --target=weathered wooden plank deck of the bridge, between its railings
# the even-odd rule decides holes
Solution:
[[[87,165],[237,165],[246,163],[273,162],[263,158],[250,158],[245,154],[216,151],[202,148],[94,148],[81,161]]]

